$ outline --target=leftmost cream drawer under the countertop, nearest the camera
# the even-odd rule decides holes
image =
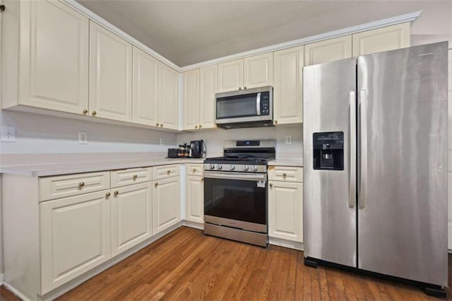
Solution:
[[[110,172],[40,177],[40,201],[76,196],[110,188]]]

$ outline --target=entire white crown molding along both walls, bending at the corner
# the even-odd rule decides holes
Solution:
[[[79,4],[76,0],[61,0],[61,1],[63,1],[68,6],[71,6],[79,13],[82,13],[84,16],[90,18],[90,20],[93,20],[95,23],[98,23],[99,25],[102,25],[103,27],[107,28],[108,30],[112,31],[113,33],[119,35],[127,42],[130,42],[134,47],[137,47],[137,48],[143,50],[143,52],[146,52],[146,53],[152,55],[153,57],[155,57],[156,59],[159,59],[160,61],[162,61],[162,63],[167,64],[168,66],[170,66],[172,69],[178,71],[179,73],[185,72],[185,71],[190,71],[193,69],[198,69],[198,68],[201,68],[204,66],[218,64],[222,61],[230,61],[232,59],[240,59],[242,57],[249,57],[251,55],[261,54],[264,52],[273,52],[273,51],[280,50],[280,49],[300,46],[300,45],[304,45],[304,44],[308,44],[308,43],[312,43],[312,42],[319,42],[321,40],[327,40],[327,39],[331,39],[333,37],[340,37],[343,35],[352,35],[353,33],[359,33],[359,32],[366,31],[366,30],[373,30],[373,29],[382,28],[385,26],[396,25],[396,24],[406,23],[406,22],[413,22],[422,13],[422,11],[415,11],[413,13],[406,13],[406,14],[400,15],[400,16],[395,16],[395,17],[386,18],[386,19],[382,19],[382,20],[376,20],[374,22],[356,25],[356,26],[352,26],[349,28],[333,30],[328,33],[321,33],[320,35],[312,35],[311,37],[304,37],[304,38],[298,39],[298,40],[292,40],[289,42],[284,42],[284,43],[280,43],[280,44],[270,45],[267,47],[249,50],[247,52],[240,52],[237,54],[228,55],[226,57],[219,57],[218,59],[210,59],[209,61],[203,61],[201,63],[197,63],[197,64],[193,64],[193,65],[189,65],[189,66],[179,67],[179,66],[177,66],[177,64],[174,64],[172,61],[169,61],[169,59],[158,54],[153,49],[150,49],[150,47],[148,47],[148,46],[144,45],[142,42],[136,40],[131,35],[124,33],[124,31],[120,30],[112,23],[109,23],[104,18],[97,16],[97,14],[93,13],[93,11],[90,11],[88,8],[85,8],[85,6]]]

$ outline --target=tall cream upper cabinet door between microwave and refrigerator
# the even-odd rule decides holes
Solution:
[[[274,53],[275,83],[273,118],[275,124],[303,121],[303,46]]]

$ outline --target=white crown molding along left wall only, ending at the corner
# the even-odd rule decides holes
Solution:
[[[172,61],[169,61],[166,57],[163,57],[161,54],[158,54],[153,49],[150,49],[148,46],[144,45],[142,42],[136,40],[136,38],[132,37],[128,33],[124,33],[124,31],[117,28],[112,23],[109,23],[104,18],[101,18],[100,16],[97,16],[97,14],[93,13],[93,11],[90,11],[88,8],[85,8],[85,6],[79,4],[76,0],[61,0],[68,6],[71,6],[79,13],[83,14],[85,17],[88,17],[90,20],[93,20],[95,23],[107,28],[108,30],[112,31],[116,35],[119,35],[119,37],[123,38],[127,42],[131,43],[134,47],[137,47],[143,52],[146,52],[156,59],[159,59],[162,61],[162,63],[167,64],[172,69],[175,69],[176,71],[180,72],[180,67],[174,64]]]

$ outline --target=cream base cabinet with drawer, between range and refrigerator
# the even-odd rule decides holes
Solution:
[[[268,236],[303,242],[302,167],[268,168]]]

